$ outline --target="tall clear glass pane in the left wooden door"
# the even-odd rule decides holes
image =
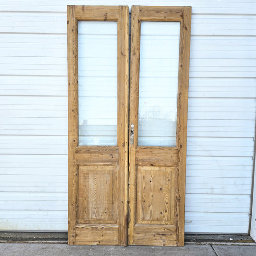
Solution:
[[[117,22],[78,21],[79,145],[117,145]]]

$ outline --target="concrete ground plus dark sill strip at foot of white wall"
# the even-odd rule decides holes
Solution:
[[[67,233],[0,232],[0,256],[256,256],[249,235],[185,234],[184,247],[68,245]]]

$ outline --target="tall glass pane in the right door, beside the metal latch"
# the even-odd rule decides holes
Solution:
[[[179,22],[141,22],[139,146],[176,146]]]

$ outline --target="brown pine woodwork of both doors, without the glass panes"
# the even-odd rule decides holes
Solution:
[[[115,146],[78,146],[78,21],[117,22]],[[141,21],[180,22],[176,146],[138,146]],[[190,23],[191,7],[132,7],[129,86],[128,6],[68,6],[69,244],[183,246]]]

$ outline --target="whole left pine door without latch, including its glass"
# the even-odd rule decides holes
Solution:
[[[127,244],[127,6],[68,6],[68,244]],[[79,84],[79,85],[78,85]]]

